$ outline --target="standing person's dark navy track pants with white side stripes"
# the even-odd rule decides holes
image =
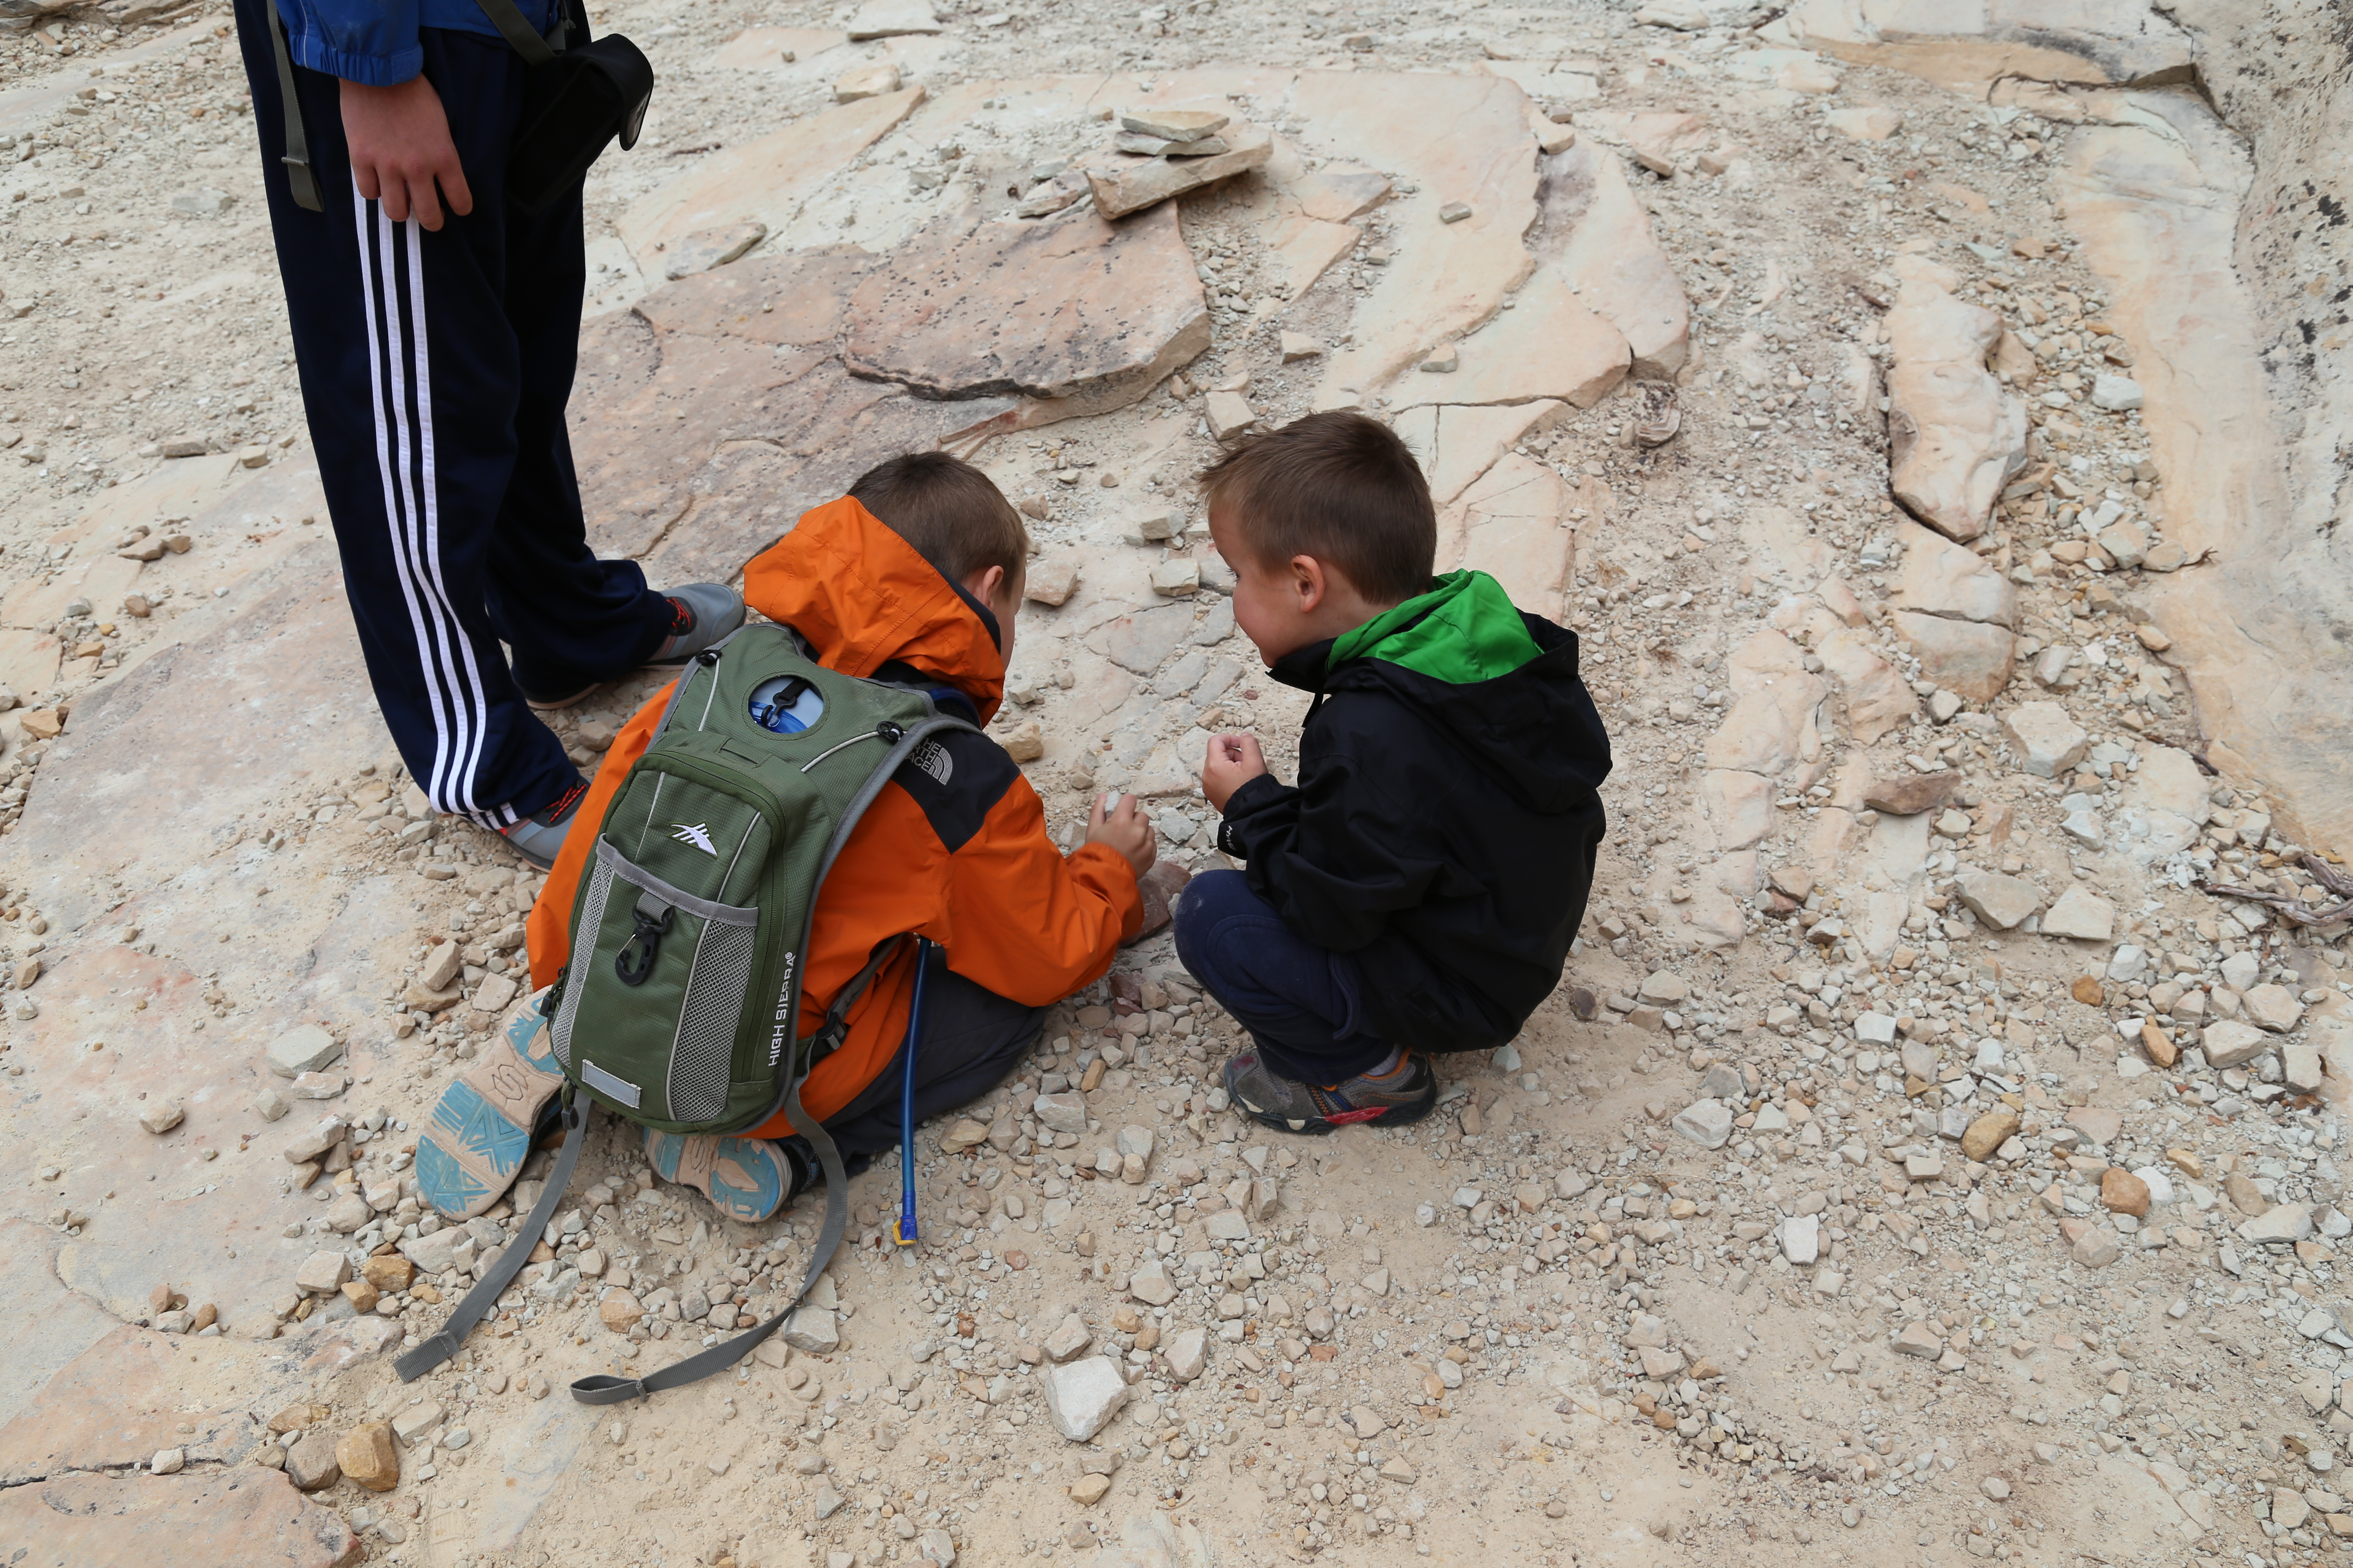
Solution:
[[[311,444],[376,705],[440,811],[504,827],[579,769],[522,691],[558,696],[652,656],[671,607],[588,548],[565,402],[579,353],[581,200],[506,205],[522,61],[424,28],[473,190],[438,233],[360,200],[341,87],[294,71],[325,212],[294,205],[268,0],[235,0]],[[513,668],[499,644],[513,649]]]

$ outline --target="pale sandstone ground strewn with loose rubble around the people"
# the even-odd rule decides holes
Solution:
[[[466,1568],[2334,1556],[2344,926],[2252,896],[2334,898],[2287,731],[2341,703],[2245,651],[2311,611],[2231,529],[2299,512],[2207,423],[2266,395],[2245,176],[2165,82],[2268,94],[2214,24],[2080,12],[600,14],[664,82],[588,190],[602,548],[727,576],[889,451],[984,463],[1040,548],[998,736],[1066,842],[1144,797],[1158,931],[1221,863],[1207,736],[1289,769],[1306,708],[1191,475],[1358,407],[1440,564],[1579,630],[1617,771],[1572,973],[1431,1121],[1242,1121],[1155,933],[918,1133],[920,1246],[885,1157],[736,1375],[584,1413],[784,1309],[814,1208],[734,1225],[616,1124],[541,1237],[546,1154],[421,1208],[539,879],[372,722],[226,12],[21,9],[0,1509]],[[656,689],[553,722],[593,766]]]

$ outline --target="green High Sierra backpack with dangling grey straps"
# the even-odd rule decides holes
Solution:
[[[809,922],[866,806],[904,762],[929,762],[941,729],[979,733],[922,691],[826,670],[786,625],[746,625],[694,656],[595,830],[572,954],[541,1004],[565,1070],[562,1154],[520,1237],[400,1359],[402,1380],[454,1354],[529,1260],[579,1159],[581,1095],[664,1133],[741,1133],[784,1112],[826,1173],[826,1222],[784,1312],[647,1378],[581,1378],[572,1396],[616,1403],[708,1378],[784,1324],[849,1220],[842,1157],[800,1084],[899,947],[875,947],[824,1025],[795,1037]]]

